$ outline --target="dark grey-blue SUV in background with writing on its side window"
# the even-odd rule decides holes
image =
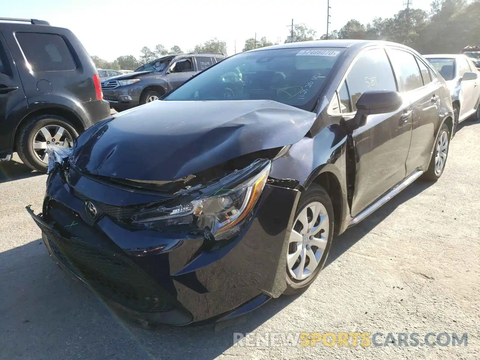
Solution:
[[[166,55],[130,74],[109,78],[102,83],[102,91],[110,106],[122,111],[158,99],[224,58],[215,52]]]

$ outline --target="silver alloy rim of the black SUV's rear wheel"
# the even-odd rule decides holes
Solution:
[[[48,164],[47,145],[71,147],[72,134],[59,125],[47,125],[38,130],[32,140],[32,149],[35,156],[44,164]]]

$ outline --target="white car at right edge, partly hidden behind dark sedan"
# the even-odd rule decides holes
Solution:
[[[447,83],[452,96],[455,129],[459,122],[470,117],[474,120],[480,119],[480,79],[472,60],[463,54],[436,54],[424,57]]]

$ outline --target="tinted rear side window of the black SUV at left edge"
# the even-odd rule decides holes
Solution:
[[[77,68],[72,53],[60,35],[16,33],[15,36],[33,71],[62,71]]]

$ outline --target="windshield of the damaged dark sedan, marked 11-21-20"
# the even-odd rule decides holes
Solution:
[[[241,53],[200,73],[165,100],[275,100],[311,111],[344,48]]]

